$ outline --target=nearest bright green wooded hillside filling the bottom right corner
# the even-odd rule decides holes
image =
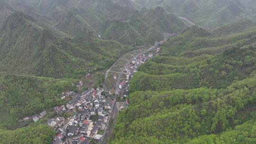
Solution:
[[[254,75],[224,90],[199,88],[132,93],[128,110],[119,116],[109,143],[191,144],[190,140],[195,138],[193,144],[202,144],[203,136],[196,137],[229,133],[232,132],[229,129],[249,120],[253,120],[248,122],[250,126],[255,127],[255,86]],[[238,127],[235,130],[241,132]],[[251,131],[252,135],[254,133]],[[255,136],[246,137],[250,136],[241,135],[238,142],[256,140]],[[234,141],[228,135],[223,135],[222,139],[227,143]]]

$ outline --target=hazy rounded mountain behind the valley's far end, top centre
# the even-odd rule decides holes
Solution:
[[[161,7],[134,11],[126,21],[108,21],[103,30],[106,39],[127,45],[153,45],[163,40],[163,33],[177,33],[187,26],[181,19]],[[154,31],[154,33],[153,33]]]

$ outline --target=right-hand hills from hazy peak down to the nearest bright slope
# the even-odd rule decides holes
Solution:
[[[242,80],[256,70],[255,32],[220,38],[191,27],[161,46],[164,57],[155,57],[139,68],[130,81],[130,92],[225,88]]]

